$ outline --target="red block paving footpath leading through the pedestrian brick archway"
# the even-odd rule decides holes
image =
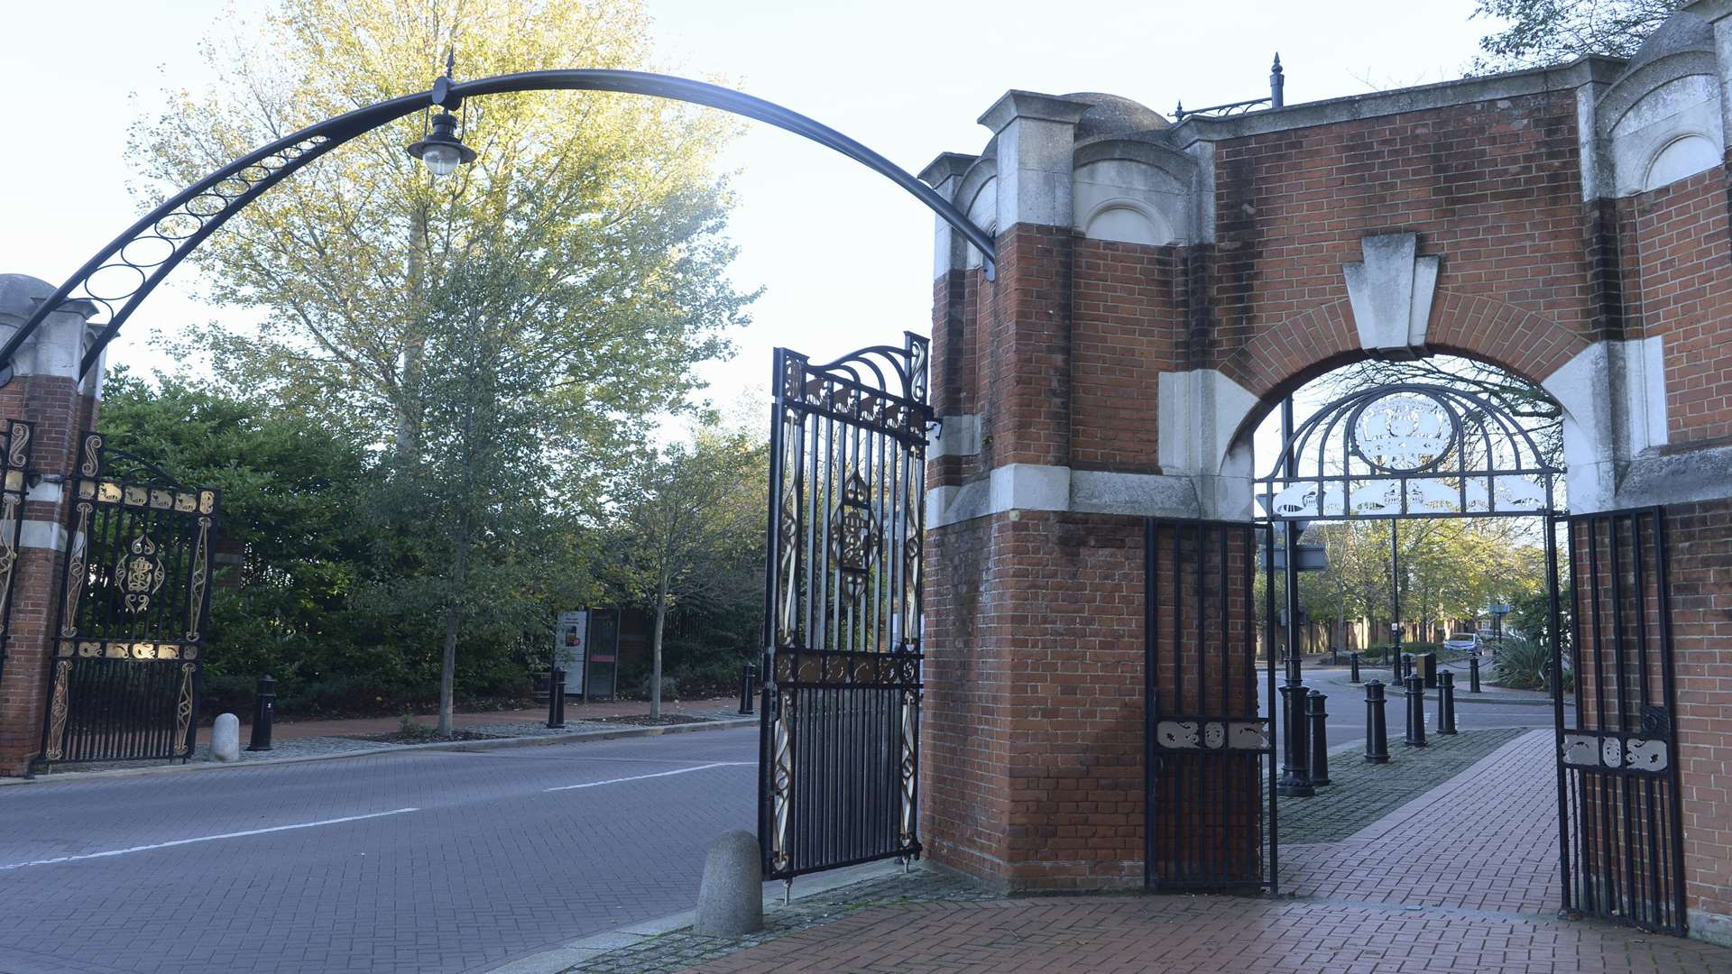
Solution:
[[[1282,893],[1296,899],[1053,896],[887,903],[688,969],[701,974],[1732,971],[1729,948],[1555,919],[1552,789],[1552,731],[1531,731],[1342,841],[1283,846]]]

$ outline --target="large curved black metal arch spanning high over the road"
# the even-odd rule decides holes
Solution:
[[[431,90],[359,107],[253,149],[140,217],[123,234],[99,250],[95,256],[87,260],[76,274],[68,277],[54,295],[36,307],[29,321],[0,347],[0,385],[12,381],[12,362],[17,350],[42,326],[43,319],[73,302],[92,302],[107,310],[109,315],[102,329],[90,340],[90,347],[80,362],[78,376],[83,378],[95,366],[97,359],[100,359],[107,343],[120,333],[120,328],[132,317],[139,303],[204,237],[211,236],[265,191],[294,175],[301,166],[331,149],[430,106],[450,109],[468,97],[554,90],[622,92],[682,101],[753,118],[795,135],[804,135],[826,149],[842,153],[911,192],[986,255],[986,270],[989,277],[992,276],[992,265],[998,262],[998,250],[992,237],[968,220],[949,199],[944,199],[932,187],[920,182],[920,179],[854,139],[779,104],[707,81],[648,71],[573,68],[520,71],[514,75],[476,78],[473,81],[440,78]],[[118,284],[99,282],[92,288],[92,279],[99,274],[121,277],[121,281]],[[109,291],[111,286],[120,289]]]

